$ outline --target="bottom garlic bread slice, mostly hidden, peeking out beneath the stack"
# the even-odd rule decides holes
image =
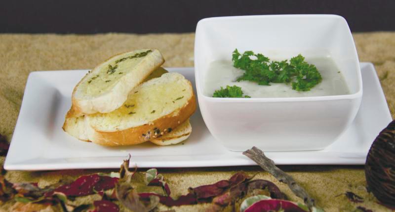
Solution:
[[[189,135],[191,135],[192,126],[189,120],[184,121],[181,125],[177,126],[173,131],[150,140],[150,142],[159,145],[159,146],[167,146],[172,144],[178,144],[182,141],[185,141]]]

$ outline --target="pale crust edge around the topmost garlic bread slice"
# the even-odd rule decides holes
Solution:
[[[142,61],[142,66],[141,69],[146,70],[146,73],[144,76],[139,79],[139,83],[136,84],[135,86],[141,84],[144,79],[146,79],[155,69],[160,67],[164,63],[164,59],[161,56],[160,52],[156,49],[153,49],[155,51],[155,54],[157,56],[147,56],[151,57],[152,60],[144,60]],[[126,52],[124,52],[126,53]],[[97,68],[100,68],[100,66],[103,63],[106,63],[107,61],[112,60],[115,57],[118,57],[119,55],[122,55],[124,53],[117,54],[115,56],[110,57],[106,61],[100,63],[97,65],[95,68],[92,69],[92,73],[94,70]],[[154,53],[152,53],[154,54]],[[154,63],[154,64],[152,64]],[[118,107],[120,107],[124,101],[127,99],[127,95],[129,91],[131,91],[135,86],[129,86],[128,83],[128,78],[123,77],[119,80],[117,85],[109,92],[100,95],[96,98],[93,99],[78,99],[76,98],[76,92],[79,88],[79,85],[85,81],[85,78],[91,77],[90,74],[86,74],[76,85],[76,87],[73,90],[72,94],[72,109],[74,111],[75,116],[82,116],[82,115],[87,115],[87,114],[94,114],[94,113],[108,113],[113,110],[116,110]]]

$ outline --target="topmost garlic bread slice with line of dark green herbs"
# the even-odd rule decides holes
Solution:
[[[85,75],[72,95],[76,116],[108,113],[126,101],[128,93],[163,64],[156,49],[143,49],[116,55]]]

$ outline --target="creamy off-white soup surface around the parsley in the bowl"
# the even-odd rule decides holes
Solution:
[[[255,82],[236,82],[237,77],[244,73],[244,70],[233,67],[232,61],[213,61],[210,63],[205,76],[204,93],[212,96],[215,90],[221,86],[241,87],[244,95],[251,97],[303,97],[303,96],[325,96],[349,94],[349,88],[343,74],[331,58],[311,58],[307,62],[316,65],[322,76],[322,82],[310,91],[292,90],[291,84],[271,83],[270,86],[258,85]]]

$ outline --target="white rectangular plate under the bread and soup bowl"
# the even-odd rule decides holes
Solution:
[[[168,68],[195,84],[193,68]],[[79,141],[62,130],[74,86],[87,70],[38,71],[29,75],[19,118],[5,159],[7,170],[118,168],[131,154],[140,168],[256,165],[225,149],[207,130],[199,110],[193,132],[182,144],[159,147],[149,142],[129,147],[102,147]],[[361,63],[363,97],[352,126],[321,151],[267,152],[276,164],[364,164],[377,134],[392,121],[371,63]],[[325,121],[325,120],[322,120]],[[242,141],[240,141],[242,142]]]

